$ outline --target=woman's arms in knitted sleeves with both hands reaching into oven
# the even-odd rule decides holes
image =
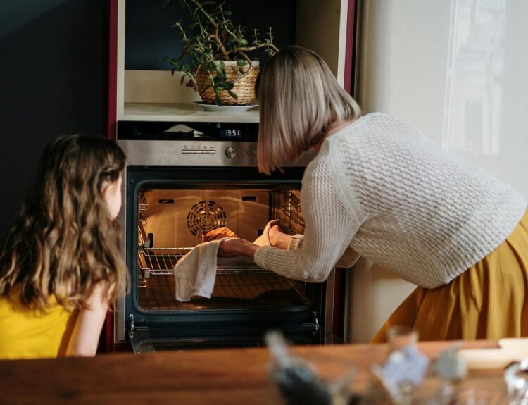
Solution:
[[[280,235],[279,229],[272,226],[268,232],[270,246],[227,238],[220,244],[218,255],[249,256],[262,268],[309,282],[326,280],[336,265],[352,266],[359,255],[350,244],[365,219],[363,208],[356,201],[348,201],[324,163],[315,170],[309,168],[301,192],[306,225],[303,237]]]

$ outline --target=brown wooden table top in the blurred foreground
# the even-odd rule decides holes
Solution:
[[[423,342],[431,359],[451,346]],[[493,348],[496,342],[466,342],[463,347]],[[382,363],[384,344],[339,344],[292,348],[312,361],[322,377],[342,365],[357,369],[355,385],[366,387],[372,363]],[[166,351],[152,354],[103,354],[92,359],[0,361],[0,404],[269,404],[266,348]],[[430,394],[439,381],[427,379]],[[465,384],[504,397],[502,370],[470,373]]]

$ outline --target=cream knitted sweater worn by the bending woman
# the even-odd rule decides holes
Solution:
[[[359,256],[423,287],[446,284],[510,235],[524,196],[382,113],[330,135],[303,177],[298,249],[260,247],[258,266],[321,282]],[[300,237],[294,237],[293,244]]]

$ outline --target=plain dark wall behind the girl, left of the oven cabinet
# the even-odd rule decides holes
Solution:
[[[44,145],[101,134],[107,8],[99,0],[0,1],[0,234],[13,223]]]

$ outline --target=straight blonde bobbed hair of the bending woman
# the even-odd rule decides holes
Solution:
[[[327,128],[361,110],[325,61],[301,46],[272,56],[257,83],[260,104],[258,170],[270,174],[321,142]]]

